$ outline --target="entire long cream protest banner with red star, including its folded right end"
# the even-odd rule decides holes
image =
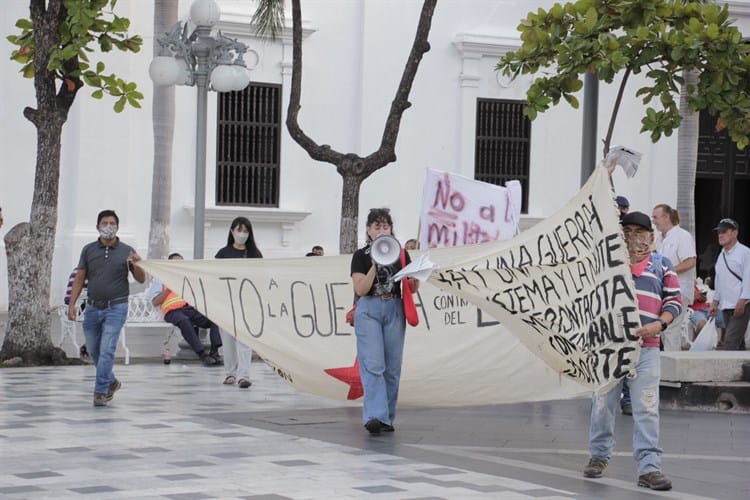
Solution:
[[[632,368],[635,296],[609,181],[502,243],[430,250],[415,295],[399,401],[423,406],[564,399]],[[350,256],[145,261],[294,387],[357,400]],[[478,308],[477,306],[480,306]],[[565,374],[565,375],[560,375]]]

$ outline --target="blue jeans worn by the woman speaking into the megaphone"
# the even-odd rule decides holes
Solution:
[[[365,391],[362,423],[396,418],[404,357],[404,306],[400,299],[360,297],[354,313],[359,375]]]

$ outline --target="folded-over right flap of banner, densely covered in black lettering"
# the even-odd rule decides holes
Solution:
[[[431,252],[429,282],[498,318],[555,371],[598,390],[634,371],[640,315],[604,168],[532,229],[460,250]]]

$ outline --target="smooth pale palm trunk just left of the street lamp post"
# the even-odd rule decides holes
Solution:
[[[154,57],[159,55],[156,39],[177,22],[178,0],[154,3]],[[151,180],[151,229],[148,258],[161,259],[169,253],[169,225],[172,213],[172,145],[174,142],[174,86],[154,84],[152,118],[154,127],[154,171]]]

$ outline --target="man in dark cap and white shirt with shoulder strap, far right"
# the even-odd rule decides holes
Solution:
[[[744,351],[745,331],[750,308],[750,248],[737,241],[740,225],[734,219],[721,219],[714,228],[719,238],[721,253],[716,258],[714,299],[709,315],[721,313],[727,325],[724,351]]]

